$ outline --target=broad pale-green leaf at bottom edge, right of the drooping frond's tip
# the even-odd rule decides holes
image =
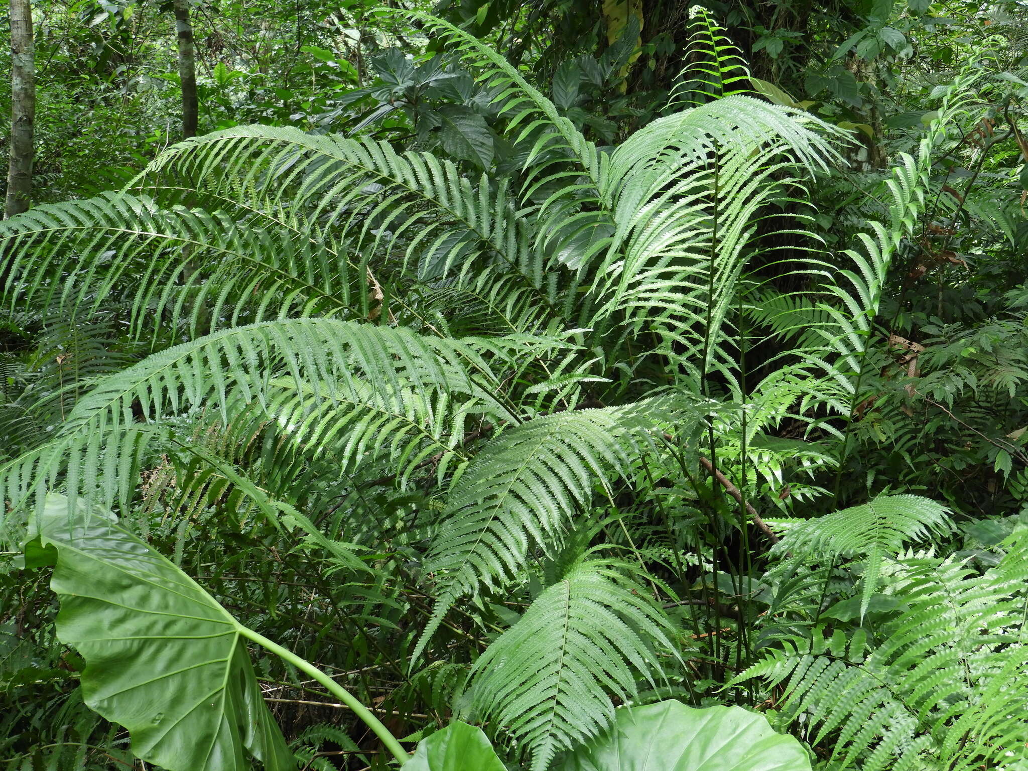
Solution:
[[[810,759],[762,714],[661,701],[619,709],[610,730],[553,771],[810,771]]]

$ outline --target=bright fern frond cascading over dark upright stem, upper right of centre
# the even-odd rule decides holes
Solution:
[[[818,122],[728,97],[660,118],[614,153],[602,193],[617,218],[597,254],[580,323],[624,319],[656,332],[696,380],[721,366],[722,326],[747,247],[771,204],[802,184],[800,169],[835,157]]]

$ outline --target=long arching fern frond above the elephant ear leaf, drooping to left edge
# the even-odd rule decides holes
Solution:
[[[282,378],[294,395],[285,403]],[[473,411],[516,421],[505,408],[485,406],[497,404],[498,391],[487,363],[456,340],[332,319],[225,329],[97,381],[52,441],[0,467],[0,499],[16,508],[64,474],[69,490],[85,498],[100,490],[105,503],[118,498],[124,505],[146,439],[136,430],[136,413],[154,420],[204,408],[225,425],[242,400],[272,416],[282,409],[282,432],[315,447],[326,432],[341,441],[346,429],[354,446],[362,447],[370,435],[388,443],[416,428],[433,437],[436,448],[452,448],[469,414],[451,408],[454,400],[484,400],[485,408]],[[326,406],[333,402],[345,405],[341,414],[338,405],[335,412]],[[362,406],[369,409],[361,412]],[[405,445],[404,453],[408,464],[420,457],[414,445]]]

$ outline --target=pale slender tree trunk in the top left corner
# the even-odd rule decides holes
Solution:
[[[32,194],[32,132],[36,117],[36,65],[30,0],[10,0],[10,166],[4,215],[29,208]]]

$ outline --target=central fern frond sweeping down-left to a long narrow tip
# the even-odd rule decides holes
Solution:
[[[560,412],[490,441],[453,485],[433,538],[424,570],[436,574],[437,601],[412,658],[457,598],[502,587],[531,549],[559,548],[593,488],[627,471],[665,410],[651,400]]]

